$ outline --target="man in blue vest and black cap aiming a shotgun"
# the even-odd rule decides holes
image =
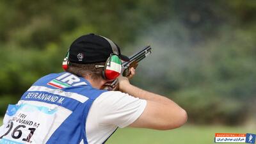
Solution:
[[[42,77],[8,107],[0,143],[104,143],[118,127],[183,125],[186,111],[175,102],[119,76],[121,60],[129,58],[108,38],[77,38],[63,61],[66,72]],[[131,68],[128,77],[134,74]],[[118,91],[104,90],[115,79]]]

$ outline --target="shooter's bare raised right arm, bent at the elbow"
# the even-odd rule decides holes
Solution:
[[[134,69],[131,72],[134,74]],[[118,77],[118,83],[121,92],[147,100],[145,110],[135,122],[129,125],[130,127],[167,130],[175,129],[186,123],[186,111],[172,100],[133,86],[127,77]]]

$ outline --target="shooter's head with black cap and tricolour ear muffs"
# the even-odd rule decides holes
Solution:
[[[104,36],[89,34],[77,38],[68,49],[63,68],[77,76],[116,79],[121,72],[121,61],[129,61],[113,41]]]

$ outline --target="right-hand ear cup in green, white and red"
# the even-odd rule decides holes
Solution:
[[[118,56],[113,55],[106,63],[105,76],[107,79],[116,79],[121,73],[122,65]]]

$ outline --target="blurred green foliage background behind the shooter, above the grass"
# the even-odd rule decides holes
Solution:
[[[255,1],[3,0],[0,21],[0,115],[36,79],[62,71],[75,38],[97,33],[127,54],[151,44],[132,83],[174,99],[189,122],[256,118]]]

